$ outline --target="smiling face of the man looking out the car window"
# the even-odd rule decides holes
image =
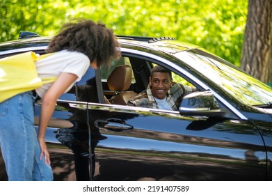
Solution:
[[[172,79],[167,72],[154,72],[152,77],[150,77],[150,85],[152,95],[163,100],[166,98],[166,93],[172,85]]]

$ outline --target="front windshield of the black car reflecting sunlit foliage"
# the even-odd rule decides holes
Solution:
[[[234,65],[202,50],[178,52],[175,56],[214,84],[221,86],[243,104],[271,105],[272,88],[235,68]]]

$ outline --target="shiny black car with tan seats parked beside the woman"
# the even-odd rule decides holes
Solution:
[[[22,33],[0,44],[0,58],[44,54],[49,40]],[[271,87],[173,38],[118,42],[121,59],[89,68],[56,104],[46,134],[54,180],[76,180],[75,173],[78,180],[272,180]],[[179,111],[126,105],[145,90],[154,65],[198,88]],[[36,102],[36,125],[39,110]],[[3,167],[0,154],[0,180]]]

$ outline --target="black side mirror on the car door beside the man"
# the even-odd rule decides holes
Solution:
[[[185,95],[179,107],[179,113],[186,116],[222,116],[225,112],[211,91],[197,91]]]

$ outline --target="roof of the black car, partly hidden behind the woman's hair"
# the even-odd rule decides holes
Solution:
[[[35,34],[36,35],[36,34]],[[166,54],[175,54],[184,50],[191,50],[198,48],[196,45],[191,45],[186,42],[180,42],[174,38],[152,38],[152,37],[141,37],[141,36],[117,36],[120,47],[146,50],[147,52],[163,52]],[[31,47],[42,47],[47,46],[50,42],[51,37],[43,36],[26,36],[26,38],[19,37],[17,40],[1,42],[0,43],[0,55],[15,52],[22,49],[29,49]],[[33,48],[34,49],[34,48]]]

